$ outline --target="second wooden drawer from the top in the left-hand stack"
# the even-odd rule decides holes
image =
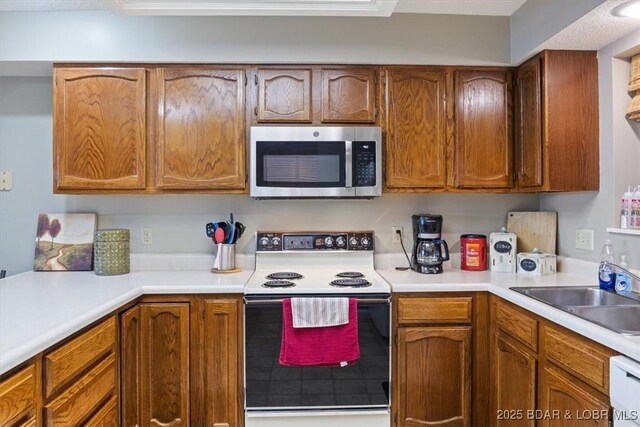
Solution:
[[[45,426],[79,425],[115,396],[116,359],[110,354],[95,368],[45,405]]]

